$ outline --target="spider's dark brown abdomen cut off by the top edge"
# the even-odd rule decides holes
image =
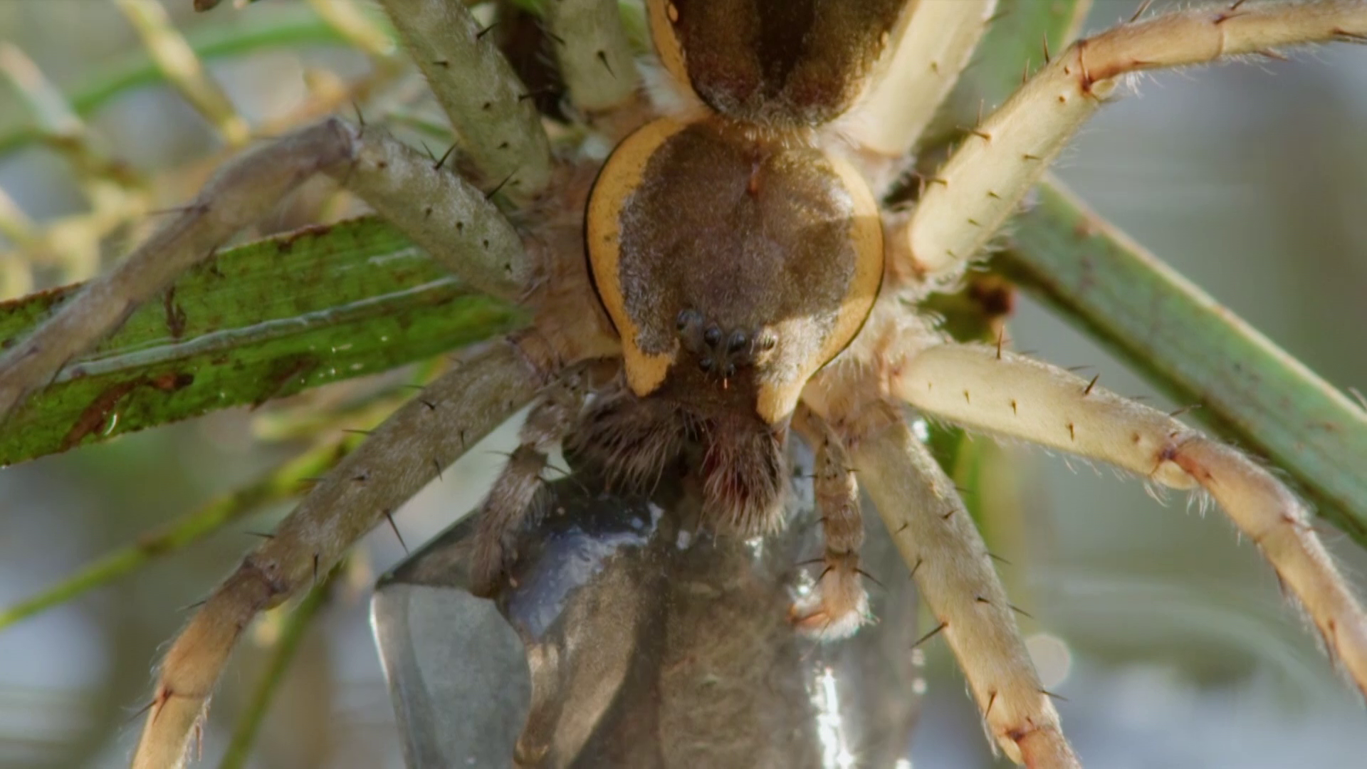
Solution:
[[[858,97],[905,0],[651,0],[674,79],[720,115],[817,125]]]

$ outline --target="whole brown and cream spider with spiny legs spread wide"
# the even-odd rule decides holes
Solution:
[[[212,0],[200,5],[213,5]],[[704,524],[782,524],[785,446],[816,450],[824,568],[796,632],[869,620],[860,491],[891,532],[935,631],[999,748],[1074,766],[1012,605],[953,483],[906,409],[1114,464],[1213,497],[1258,543],[1367,694],[1367,616],[1308,512],[1237,450],[998,345],[954,343],[916,307],[958,283],[1048,161],[1131,73],[1367,37],[1367,3],[1158,15],[1074,42],[987,115],[925,179],[880,205],[972,53],[991,0],[649,0],[658,63],[642,99],[615,3],[552,3],[548,25],[606,161],[551,145],[462,4],[383,0],[465,152],[451,166],[329,119],[230,163],[152,239],[0,357],[0,413],[137,304],[316,174],[338,179],[433,259],[524,304],[530,328],[472,354],[376,430],[246,557],[167,651],[134,766],[182,761],[250,620],[331,568],[480,435],[534,404],[485,501],[477,579],[498,588],[548,449],[565,441],[615,483],[686,462]],[[1137,16],[1137,15],[1136,15]],[[517,211],[502,213],[496,190]],[[604,375],[604,371],[607,372]],[[421,447],[433,465],[403,462]]]

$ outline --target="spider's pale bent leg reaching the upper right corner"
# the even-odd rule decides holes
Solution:
[[[1122,75],[1367,38],[1367,3],[1219,5],[1159,15],[1079,40],[973,130],[889,238],[901,281],[953,283]]]

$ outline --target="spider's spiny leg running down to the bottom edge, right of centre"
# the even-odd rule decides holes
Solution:
[[[854,467],[912,569],[1006,755],[1031,768],[1079,766],[1039,681],[991,556],[954,483],[886,405],[846,439]],[[854,430],[857,428],[857,430]]]

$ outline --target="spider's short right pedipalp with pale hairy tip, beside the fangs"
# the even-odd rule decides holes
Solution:
[[[793,605],[790,616],[800,632],[837,640],[871,618],[858,568],[858,550],[864,545],[858,484],[845,443],[826,420],[800,406],[793,427],[816,450],[813,488],[826,553],[819,561],[822,573],[816,587]]]

